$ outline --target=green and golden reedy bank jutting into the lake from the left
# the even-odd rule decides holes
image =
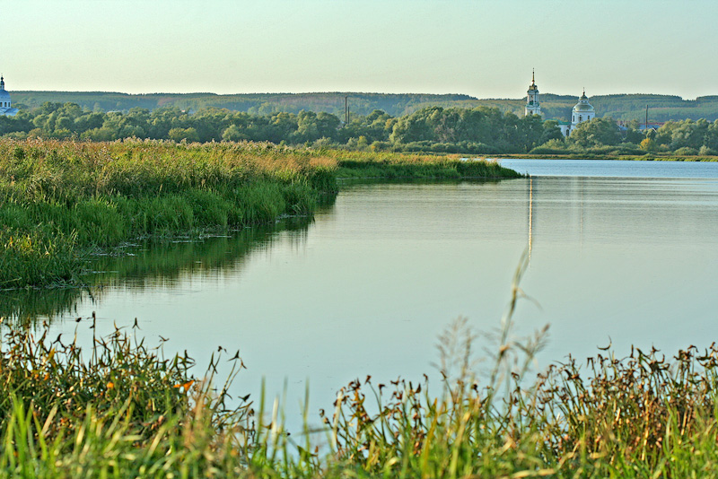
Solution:
[[[78,283],[98,248],[311,214],[337,177],[515,178],[484,161],[273,144],[0,142],[0,290]]]

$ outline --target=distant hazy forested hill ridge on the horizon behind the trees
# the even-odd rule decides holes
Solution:
[[[503,112],[523,115],[524,100],[478,100],[468,95],[389,94],[389,93],[251,93],[217,95],[215,93],[151,93],[131,95],[106,91],[11,91],[16,106],[37,108],[46,101],[77,103],[83,109],[101,111],[127,111],[140,107],[158,109],[177,107],[188,111],[206,108],[231,109],[255,115],[277,112],[326,111],[344,118],[344,99],[348,96],[349,109],[358,115],[369,115],[381,109],[392,117],[402,117],[428,106],[444,108],[493,107]],[[577,97],[571,95],[541,94],[541,108],[545,118],[568,119]],[[617,120],[645,118],[649,107],[650,121],[679,120],[685,118],[718,119],[718,96],[683,100],[679,96],[651,94],[597,95],[590,99],[599,117]]]

